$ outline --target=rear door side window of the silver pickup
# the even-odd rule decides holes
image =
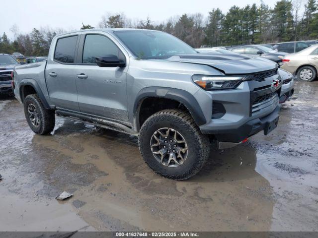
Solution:
[[[77,39],[78,36],[58,39],[55,48],[54,60],[62,63],[74,63]]]

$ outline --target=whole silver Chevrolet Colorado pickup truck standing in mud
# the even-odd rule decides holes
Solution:
[[[211,141],[230,148],[277,126],[277,70],[262,58],[198,54],[160,31],[92,29],[54,37],[47,61],[13,77],[35,133],[60,116],[133,134],[152,170],[183,180],[204,166]]]

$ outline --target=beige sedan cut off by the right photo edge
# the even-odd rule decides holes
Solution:
[[[318,45],[285,56],[281,68],[297,76],[299,80],[315,80],[318,71]]]

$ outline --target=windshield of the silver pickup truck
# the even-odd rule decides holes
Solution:
[[[183,41],[160,31],[115,31],[114,34],[140,59],[167,59],[177,54],[197,54]]]

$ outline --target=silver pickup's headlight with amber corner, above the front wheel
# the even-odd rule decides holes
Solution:
[[[205,90],[232,89],[242,82],[240,76],[192,75],[195,84]]]

